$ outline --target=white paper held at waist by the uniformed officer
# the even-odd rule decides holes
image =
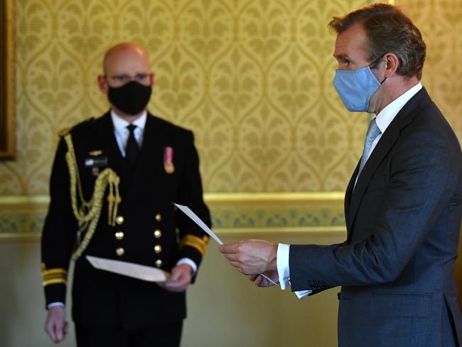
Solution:
[[[143,279],[148,282],[166,282],[170,274],[156,267],[134,264],[132,262],[122,262],[120,260],[105,259],[93,257],[92,255],[85,256],[93,267],[104,271],[123,274],[124,276]]]

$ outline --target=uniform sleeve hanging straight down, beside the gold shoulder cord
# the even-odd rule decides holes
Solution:
[[[42,277],[46,305],[65,303],[68,267],[77,222],[70,203],[67,146],[60,139],[50,177],[50,205],[41,239]]]

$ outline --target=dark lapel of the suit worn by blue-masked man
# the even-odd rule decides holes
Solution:
[[[430,100],[430,98],[426,93],[426,90],[422,87],[422,89],[419,90],[419,92],[417,92],[417,94],[414,95],[414,97],[412,97],[411,100],[409,100],[398,112],[396,117],[394,117],[393,121],[385,130],[385,133],[382,137],[380,137],[377,146],[375,146],[374,151],[372,151],[369,159],[367,159],[364,169],[362,169],[360,176],[358,177],[356,186],[354,185],[354,182],[358,175],[358,167],[356,168],[355,173],[353,173],[347,189],[347,195],[350,194],[350,198],[345,196],[345,218],[347,222],[348,240],[351,239],[353,222],[355,221],[356,213],[358,212],[358,208],[362,201],[362,196],[364,196],[372,175],[375,173],[375,170],[382,160],[385,159],[385,156],[387,156],[390,149],[392,149],[394,143],[397,142],[401,129],[412,122],[418,113],[417,109],[419,108],[419,105],[421,105],[421,103],[425,100]]]

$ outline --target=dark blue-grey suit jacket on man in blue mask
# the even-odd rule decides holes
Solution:
[[[357,173],[345,193],[347,240],[292,245],[292,290],[342,286],[341,347],[460,346],[453,274],[462,153],[424,88],[394,118],[354,187]]]

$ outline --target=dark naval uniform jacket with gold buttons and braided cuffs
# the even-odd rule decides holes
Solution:
[[[85,255],[134,262],[170,271],[182,257],[197,265],[208,237],[172,202],[188,205],[210,225],[203,202],[198,154],[193,133],[148,114],[144,140],[136,167],[130,172],[119,151],[110,113],[82,122],[70,130],[82,180],[90,199],[95,169],[87,159],[98,159],[120,177],[122,203],[117,224],[108,225],[107,201],[87,250],[75,263],[72,286],[72,317],[85,326],[122,326],[129,329],[157,321],[180,321],[186,316],[184,293],[173,293],[157,284],[95,269]],[[173,172],[167,172],[166,147],[173,149]],[[66,273],[75,247],[77,221],[70,203],[67,146],[63,139],[50,178],[50,207],[42,237],[42,271],[47,304],[65,302]],[[107,194],[105,195],[105,197]],[[104,197],[104,200],[106,200]]]

